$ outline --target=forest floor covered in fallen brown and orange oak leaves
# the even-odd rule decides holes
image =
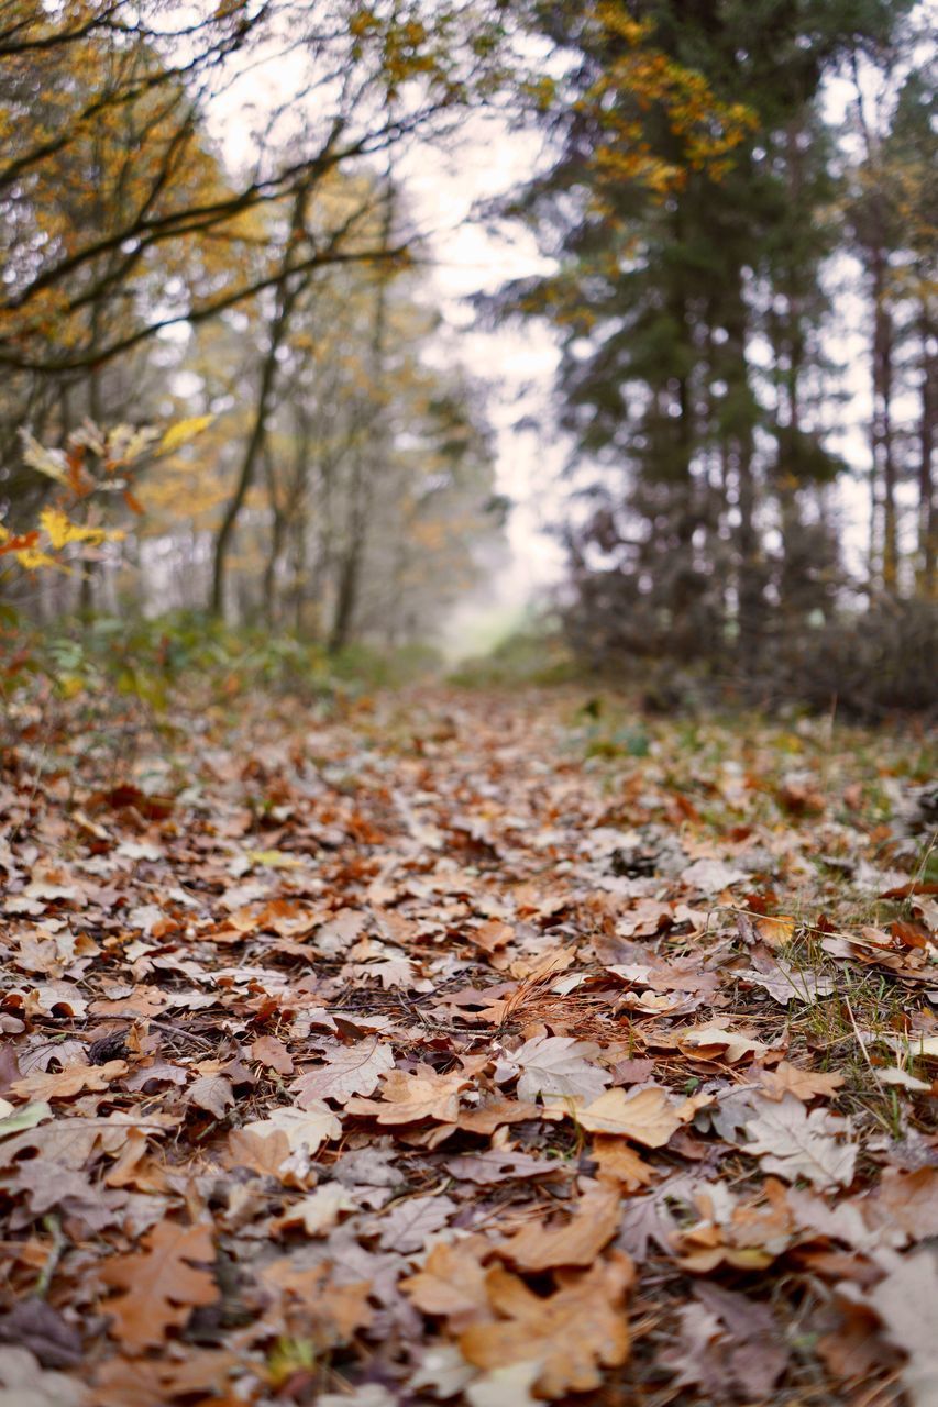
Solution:
[[[85,709],[7,720],[1,1403],[934,1407],[921,732]]]

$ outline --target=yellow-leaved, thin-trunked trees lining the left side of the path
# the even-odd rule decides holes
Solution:
[[[484,388],[427,355],[394,162],[483,100],[504,37],[461,0],[0,7],[0,550],[52,499],[87,529],[69,575],[0,557],[0,594],[341,649],[425,636],[490,570]],[[180,419],[132,481],[89,452]]]

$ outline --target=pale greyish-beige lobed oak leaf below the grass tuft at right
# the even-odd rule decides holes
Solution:
[[[749,1142],[744,1151],[786,1182],[806,1178],[824,1189],[853,1179],[856,1145],[837,1142],[848,1133],[846,1121],[824,1109],[807,1113],[800,1100],[786,1095],[779,1104],[763,1103],[745,1128]]]

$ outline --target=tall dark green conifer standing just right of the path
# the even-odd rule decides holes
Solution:
[[[561,333],[562,424],[594,505],[565,529],[572,626],[593,653],[723,657],[753,673],[779,599],[790,626],[830,599],[824,515],[804,518],[838,470],[820,412],[821,270],[835,232],[815,97],[900,10],[662,0],[607,6],[601,24],[566,10],[549,23],[575,55],[572,115],[555,125],[556,162],[513,212],[546,231],[559,269],[507,288],[501,307]],[[672,90],[603,83],[637,17],[658,70],[696,73],[680,89],[696,101],[677,115]],[[701,151],[708,111],[721,141]],[[625,148],[617,184],[604,180],[617,165],[610,129]],[[814,581],[806,553],[818,556]]]

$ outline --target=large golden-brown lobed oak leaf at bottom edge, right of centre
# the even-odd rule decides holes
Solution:
[[[623,1300],[632,1279],[623,1252],[580,1275],[568,1272],[544,1299],[515,1275],[489,1271],[486,1293],[499,1318],[465,1330],[462,1355],[484,1369],[538,1363],[537,1389],[545,1397],[599,1387],[600,1366],[617,1368],[628,1356]]]

